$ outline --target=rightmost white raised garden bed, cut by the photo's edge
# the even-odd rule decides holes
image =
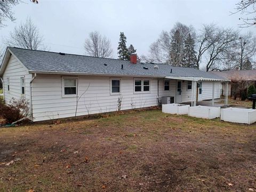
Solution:
[[[233,122],[233,123],[252,124],[256,122],[256,110],[233,108],[233,107],[221,109],[220,119],[222,121]]]

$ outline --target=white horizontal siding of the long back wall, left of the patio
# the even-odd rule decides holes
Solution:
[[[133,77],[121,79],[121,94],[113,95],[110,94],[110,77],[78,76],[78,95],[82,97],[78,101],[77,116],[116,111],[119,97],[122,97],[122,110],[158,105],[157,78],[150,79],[147,93],[133,92]],[[163,87],[159,92],[163,92]],[[75,116],[77,98],[62,98],[60,75],[37,74],[32,95],[34,121]]]

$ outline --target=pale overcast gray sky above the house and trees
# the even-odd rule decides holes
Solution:
[[[25,0],[23,0],[26,2]],[[31,17],[44,42],[54,52],[84,54],[84,39],[90,31],[98,30],[111,40],[115,57],[120,31],[127,37],[127,46],[133,44],[137,53],[147,54],[162,30],[170,30],[175,22],[193,25],[203,23],[238,28],[239,14],[230,15],[238,0],[39,0],[39,4],[21,3],[13,11],[17,20],[7,21],[0,29],[8,36],[15,25]],[[241,29],[256,34],[256,27]]]

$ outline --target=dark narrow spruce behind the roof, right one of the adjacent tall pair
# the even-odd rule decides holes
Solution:
[[[197,68],[196,65],[196,51],[195,51],[195,40],[188,34],[184,42],[184,57],[182,60],[183,67]]]

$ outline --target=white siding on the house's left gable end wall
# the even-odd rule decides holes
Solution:
[[[21,77],[25,79],[25,94],[21,94]],[[26,97],[26,99],[30,100],[30,80],[31,74],[28,73],[28,70],[16,59],[13,55],[11,55],[9,62],[5,68],[3,74],[4,80],[4,99],[5,102],[8,103],[12,98],[20,99],[21,97]],[[9,89],[8,90],[8,82],[9,81]]]

